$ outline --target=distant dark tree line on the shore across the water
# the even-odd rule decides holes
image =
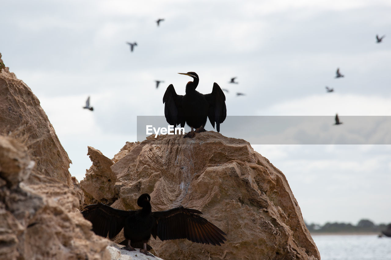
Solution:
[[[315,223],[305,225],[308,228],[310,233],[337,233],[337,232],[381,232],[382,230],[386,230],[387,224],[378,224],[376,225],[372,221],[368,219],[361,219],[356,226],[350,223],[330,223],[327,222],[323,226]]]

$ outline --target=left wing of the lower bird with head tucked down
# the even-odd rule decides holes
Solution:
[[[91,204],[81,212],[85,219],[91,221],[92,231],[109,239],[115,237],[124,228],[127,217],[132,211],[119,210],[103,204]]]

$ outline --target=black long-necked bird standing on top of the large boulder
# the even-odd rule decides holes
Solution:
[[[227,116],[227,107],[225,105],[225,95],[220,86],[215,82],[213,84],[212,93],[201,94],[195,90],[198,85],[199,78],[197,73],[179,73],[193,78],[186,84],[186,94],[178,95],[175,92],[174,86],[170,84],[163,96],[164,115],[167,123],[170,125],[185,126],[187,123],[191,127],[191,132],[188,132],[184,137],[194,137],[197,132],[204,132],[206,120],[209,118],[210,123],[217,132],[220,132],[220,124],[224,122]],[[193,130],[195,128],[195,132]]]

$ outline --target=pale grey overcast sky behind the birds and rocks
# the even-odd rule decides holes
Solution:
[[[91,165],[87,146],[112,158],[136,141],[136,116],[164,114],[169,84],[185,93],[191,78],[178,72],[195,71],[201,93],[213,82],[229,89],[229,116],[391,115],[387,0],[14,0],[1,8],[2,59],[41,101],[78,180]],[[376,34],[386,35],[382,43]],[[137,42],[133,53],[127,41]],[[338,67],[344,78],[334,78]],[[165,83],[156,89],[154,80]],[[88,96],[93,112],[82,109]],[[285,174],[307,222],[391,222],[390,145],[254,149]]]

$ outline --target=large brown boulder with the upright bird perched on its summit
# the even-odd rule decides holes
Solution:
[[[149,244],[158,256],[320,259],[285,176],[248,142],[204,132],[193,139],[147,138],[127,147],[127,154],[111,166],[118,197],[112,207],[136,209],[138,196],[147,192],[152,210],[195,208],[227,233],[221,247],[151,238]],[[94,185],[91,180],[81,183],[84,190]]]

